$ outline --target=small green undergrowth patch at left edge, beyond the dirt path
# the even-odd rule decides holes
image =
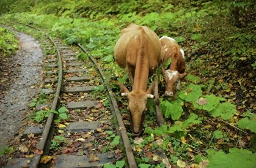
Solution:
[[[15,38],[15,34],[5,27],[0,27],[0,60],[3,57],[11,56],[18,49],[19,41]]]

